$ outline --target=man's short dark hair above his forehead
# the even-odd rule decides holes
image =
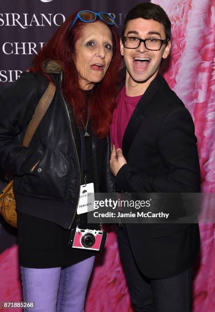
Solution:
[[[124,36],[126,26],[129,20],[135,18],[153,19],[164,25],[166,39],[171,37],[171,22],[166,12],[154,3],[140,3],[131,9],[126,15],[125,22],[122,28],[122,36]]]

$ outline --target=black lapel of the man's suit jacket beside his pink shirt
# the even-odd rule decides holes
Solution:
[[[129,149],[136,136],[142,121],[146,116],[147,109],[150,105],[151,99],[156,94],[161,86],[161,77],[157,75],[155,79],[150,83],[145,93],[137,103],[137,106],[129,120],[124,137],[122,139],[122,152],[124,157],[128,159]]]

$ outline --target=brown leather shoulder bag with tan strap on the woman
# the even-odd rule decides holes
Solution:
[[[23,146],[27,147],[44,117],[55,93],[56,87],[50,82],[45,93],[41,97],[35,113],[30,120],[23,139]],[[13,182],[11,180],[0,194],[0,213],[3,218],[12,226],[17,227],[16,201],[13,192]]]

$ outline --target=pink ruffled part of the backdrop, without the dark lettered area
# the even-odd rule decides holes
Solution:
[[[214,193],[214,1],[155,0],[153,2],[165,9],[172,22],[171,59],[164,76],[192,114],[198,138],[202,192]],[[212,202],[209,204],[213,208]],[[109,227],[109,230],[105,254],[97,258],[91,277],[86,312],[133,311],[120,265],[115,233],[113,228]],[[201,223],[200,233],[201,255],[195,266],[193,310],[213,312],[215,311],[215,225]],[[17,246],[5,250],[0,255],[0,278],[0,301],[21,301]]]

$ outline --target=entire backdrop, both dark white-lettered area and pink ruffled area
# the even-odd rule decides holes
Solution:
[[[1,0],[0,88],[17,79],[38,49],[74,10],[109,12],[120,33],[126,13],[141,2],[144,1]],[[164,8],[172,22],[171,56],[163,74],[192,114],[198,138],[202,192],[214,193],[214,1],[153,2]],[[214,228],[213,223],[200,224],[201,254],[195,265],[194,312],[215,311]],[[91,277],[86,312],[132,311],[114,228],[108,230],[105,251],[98,256]],[[2,224],[0,221],[0,279],[0,301],[21,301],[16,230],[5,226],[3,221]]]

